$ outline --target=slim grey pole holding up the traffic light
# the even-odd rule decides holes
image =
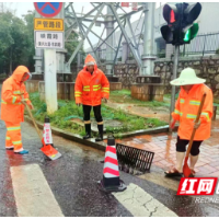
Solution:
[[[180,45],[175,46],[175,56],[174,56],[174,64],[173,64],[173,79],[177,78],[177,67],[178,67],[178,56],[180,56]],[[175,85],[172,87],[172,94],[171,94],[171,114],[170,114],[170,123],[172,120],[172,113],[175,110]],[[170,128],[170,132],[172,129]]]

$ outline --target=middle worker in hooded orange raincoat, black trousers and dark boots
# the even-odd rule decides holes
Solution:
[[[110,97],[110,82],[103,71],[97,68],[95,59],[88,55],[85,66],[79,72],[74,88],[76,104],[83,105],[84,126],[87,135],[83,139],[91,138],[91,120],[90,114],[93,107],[95,119],[99,127],[99,137],[96,141],[103,141],[103,118],[101,115],[102,99],[107,102]]]

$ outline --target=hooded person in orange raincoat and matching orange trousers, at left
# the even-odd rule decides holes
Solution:
[[[28,69],[19,66],[13,74],[3,82],[1,92],[1,119],[7,126],[7,150],[14,150],[14,153],[25,154],[21,137],[21,123],[24,122],[24,102],[31,110],[33,105],[28,100],[24,81],[31,78]]]

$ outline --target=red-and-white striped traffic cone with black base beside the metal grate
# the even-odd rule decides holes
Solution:
[[[108,137],[104,162],[103,180],[99,182],[104,192],[124,192],[127,186],[119,178],[118,160],[114,136]]]

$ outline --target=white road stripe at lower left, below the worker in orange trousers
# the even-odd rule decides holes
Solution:
[[[64,217],[38,164],[10,170],[19,217]]]

